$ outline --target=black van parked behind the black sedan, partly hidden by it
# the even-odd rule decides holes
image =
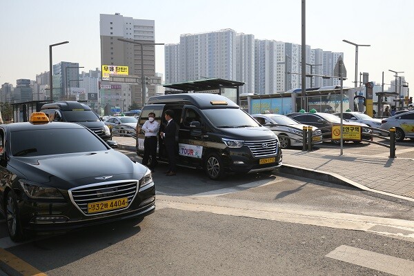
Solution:
[[[46,103],[41,107],[41,112],[48,115],[49,121],[66,121],[81,124],[95,132],[103,141],[111,139],[108,126],[103,124],[101,118],[85,103],[79,103],[78,101]]]

